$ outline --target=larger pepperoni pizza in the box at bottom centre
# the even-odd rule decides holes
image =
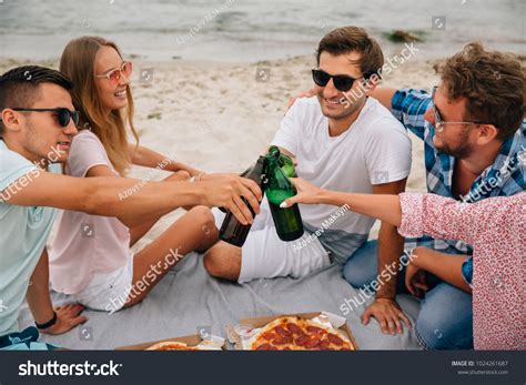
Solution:
[[[249,346],[252,351],[354,351],[351,341],[335,328],[295,316],[265,325]]]

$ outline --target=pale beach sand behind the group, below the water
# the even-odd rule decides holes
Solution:
[[[132,91],[140,143],[205,172],[242,172],[263,153],[286,111],[291,97],[312,87],[314,57],[219,63],[135,59]],[[0,70],[26,64],[2,60]],[[58,68],[57,61],[42,64]],[[438,78],[434,61],[412,58],[393,69],[382,85],[431,89]],[[423,142],[413,141],[408,191],[425,190]],[[160,180],[168,173],[134,166],[130,176]],[[135,250],[166,229],[184,211],[163,219],[135,245]],[[372,236],[377,233],[375,224]]]

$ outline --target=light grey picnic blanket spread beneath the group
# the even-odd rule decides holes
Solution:
[[[326,311],[344,316],[345,300],[360,298],[358,292],[342,276],[342,266],[333,265],[304,278],[279,277],[245,284],[211,277],[201,254],[189,254],[152,290],[140,304],[113,314],[84,311],[88,322],[70,332],[41,335],[42,342],[72,349],[113,349],[198,333],[205,328],[226,336],[225,326],[239,320],[290,313]],[[71,302],[52,293],[54,305]],[[353,308],[345,317],[361,349],[419,349],[413,330],[402,335],[385,335],[372,318],[366,326],[361,314],[373,298]],[[397,301],[412,321],[418,314],[418,301],[401,294]],[[32,325],[29,308],[22,308],[20,327]]]

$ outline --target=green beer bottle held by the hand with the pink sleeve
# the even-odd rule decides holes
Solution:
[[[286,209],[280,207],[280,204],[284,200],[296,194],[296,190],[286,178],[279,161],[280,156],[276,156],[275,151],[266,155],[266,180],[264,189],[277,236],[280,236],[280,240],[289,242],[297,240],[303,235],[303,222],[297,204],[293,204]]]

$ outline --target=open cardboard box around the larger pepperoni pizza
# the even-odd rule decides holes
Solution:
[[[357,351],[358,349],[358,344],[356,343],[356,340],[354,338],[354,335],[353,335],[353,333],[351,332],[351,328],[347,325],[347,320],[340,316],[340,315],[332,314],[332,313],[328,313],[328,312],[291,313],[291,314],[281,314],[281,315],[271,315],[271,316],[244,318],[244,320],[241,320],[239,324],[241,326],[245,325],[247,327],[259,328],[259,327],[263,327],[266,324],[271,323],[272,321],[281,318],[281,317],[291,316],[291,317],[300,317],[300,318],[305,318],[305,320],[312,320],[312,318],[317,317],[318,315],[322,315],[322,314],[328,317],[328,320],[333,324],[333,327],[335,330],[337,330],[338,332],[343,333],[343,335],[345,335],[351,341],[351,344],[353,345],[354,349]],[[242,349],[242,346],[241,346],[241,343],[240,343],[241,338],[240,338],[239,334],[234,331],[234,327],[227,327],[226,328],[226,335],[229,336],[229,340],[232,342],[232,344],[234,344],[235,349]]]

